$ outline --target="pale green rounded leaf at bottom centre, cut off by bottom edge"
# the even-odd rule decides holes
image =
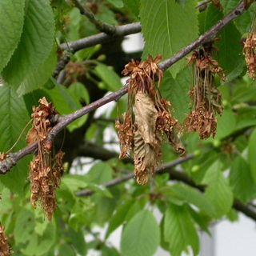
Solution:
[[[142,210],[127,223],[121,238],[123,256],[154,255],[160,243],[160,228],[149,210]]]

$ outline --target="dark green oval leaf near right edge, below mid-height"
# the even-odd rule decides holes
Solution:
[[[230,187],[236,198],[248,202],[256,194],[255,183],[250,173],[250,166],[242,157],[234,159],[230,170]]]

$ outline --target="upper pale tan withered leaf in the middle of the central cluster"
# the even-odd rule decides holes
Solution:
[[[142,91],[135,94],[134,114],[137,129],[142,134],[144,142],[154,147],[157,144],[155,126],[158,111],[155,109],[152,99]]]

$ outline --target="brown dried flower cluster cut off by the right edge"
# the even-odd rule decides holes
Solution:
[[[256,78],[256,18],[254,17],[254,22],[252,24],[251,32],[246,38],[244,43],[243,51],[246,57],[246,64],[248,74],[251,78]]]

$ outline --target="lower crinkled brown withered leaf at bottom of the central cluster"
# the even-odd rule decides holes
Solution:
[[[150,174],[154,174],[154,167],[159,166],[161,156],[161,146],[155,148],[145,143],[142,134],[136,130],[134,132],[134,174],[140,185],[146,184]]]

